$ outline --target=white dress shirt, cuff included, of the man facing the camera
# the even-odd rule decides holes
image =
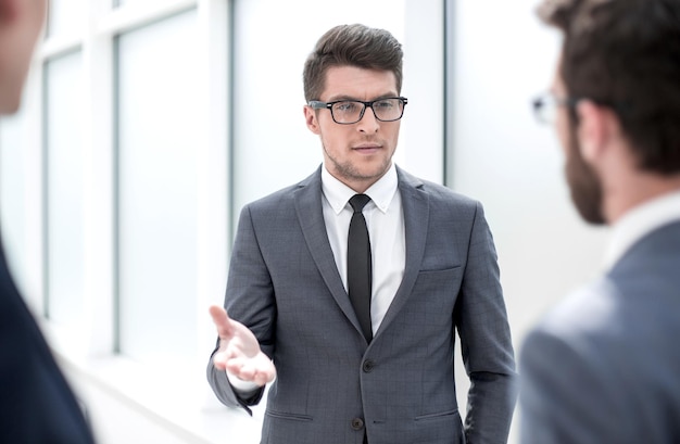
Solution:
[[[356,191],[331,176],[324,165],[322,168],[322,193],[328,241],[347,290],[348,232],[350,219],[354,213],[350,205],[350,199],[356,194]],[[370,198],[370,202],[364,206],[362,213],[366,219],[370,240],[373,269],[370,324],[375,335],[394,300],[406,266],[404,213],[394,164],[364,194]],[[234,389],[241,394],[257,389],[255,383],[242,381],[228,371],[227,377]]]

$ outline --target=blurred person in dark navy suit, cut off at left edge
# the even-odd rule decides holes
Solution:
[[[0,0],[0,115],[20,106],[46,9],[46,0]],[[76,398],[16,291],[1,245],[0,442],[93,442]]]

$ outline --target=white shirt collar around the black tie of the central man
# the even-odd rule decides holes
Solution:
[[[378,181],[372,185],[364,192],[364,194],[370,198],[378,210],[382,213],[387,213],[390,207],[390,203],[392,202],[392,198],[394,198],[394,194],[396,193],[396,167],[392,163],[387,173],[378,179]],[[322,168],[322,191],[336,214],[340,214],[340,212],[347,206],[350,199],[356,194],[356,191],[352,190],[350,187],[342,183],[328,173],[326,165]]]

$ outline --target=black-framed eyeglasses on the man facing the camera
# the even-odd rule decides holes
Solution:
[[[336,100],[332,102],[310,101],[308,105],[314,110],[328,109],[336,124],[351,125],[364,117],[366,106],[373,110],[377,120],[394,122],[402,118],[404,107],[408,103],[405,97],[386,97],[382,99],[363,102],[361,100]]]

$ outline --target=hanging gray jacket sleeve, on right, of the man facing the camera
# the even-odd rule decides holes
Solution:
[[[506,443],[517,376],[493,238],[477,203],[455,324],[470,379],[465,418],[468,444]]]

